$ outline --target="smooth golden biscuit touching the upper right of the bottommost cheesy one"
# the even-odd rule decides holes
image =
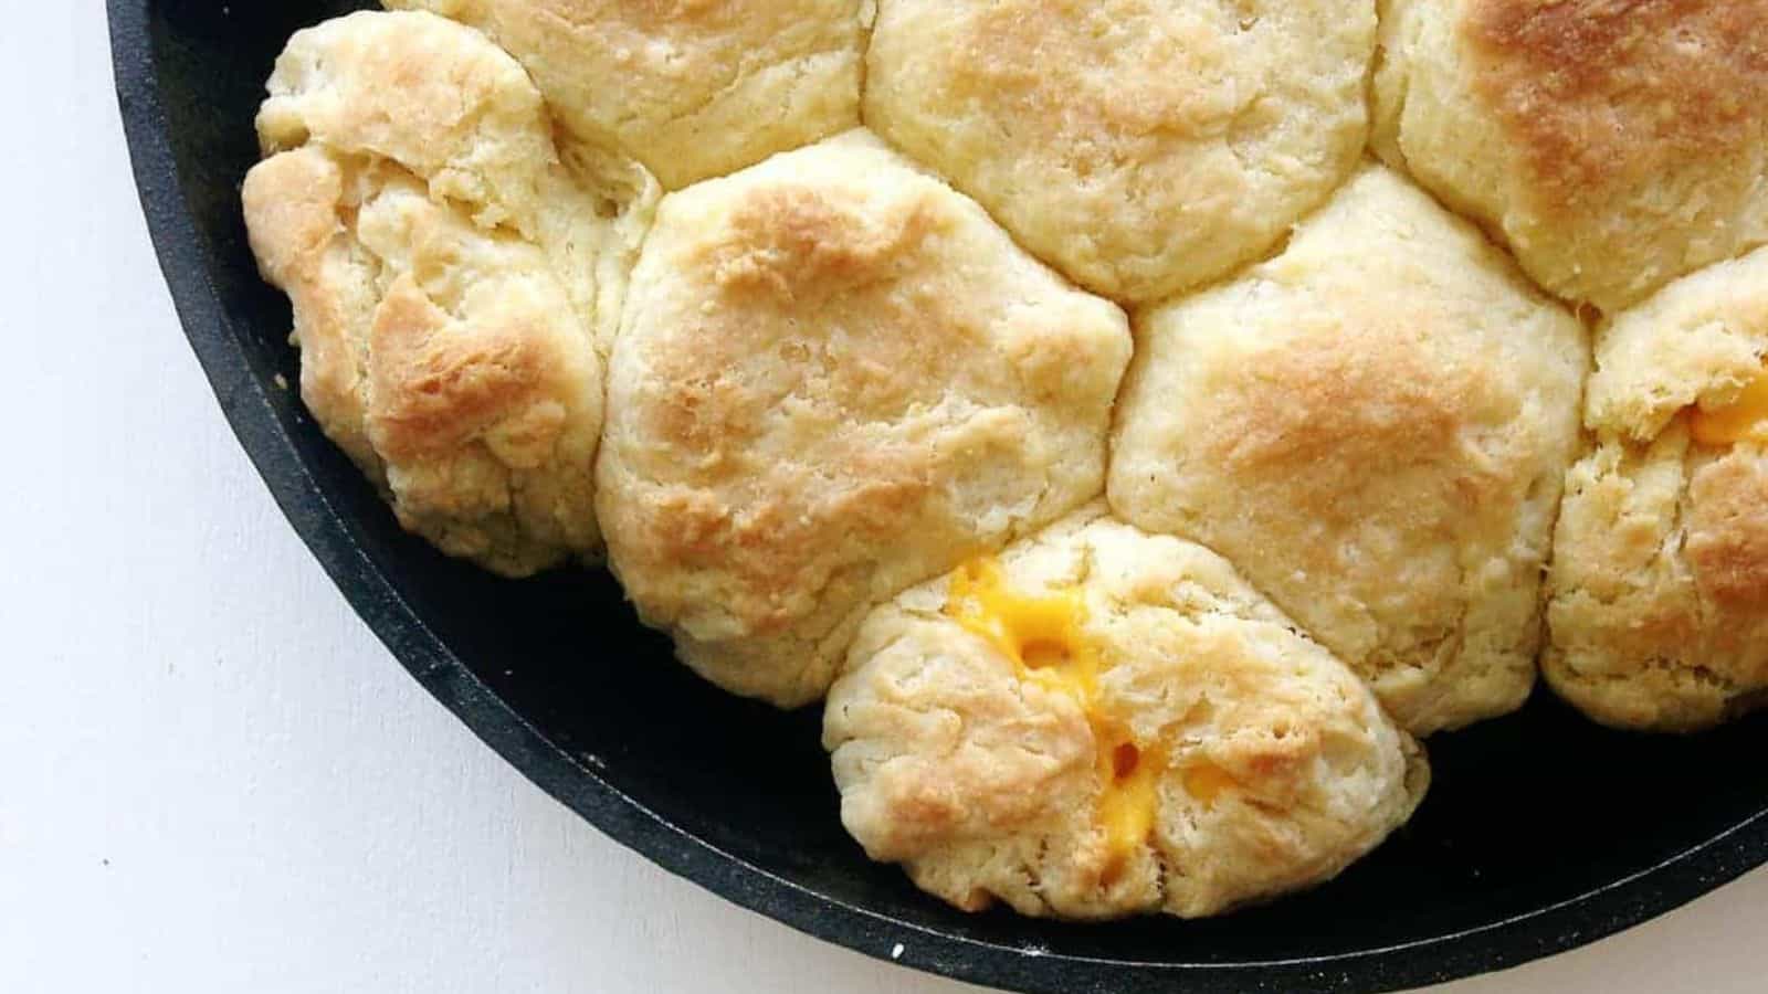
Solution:
[[[1413,734],[1522,704],[1582,325],[1381,166],[1137,315],[1109,495],[1225,555]]]

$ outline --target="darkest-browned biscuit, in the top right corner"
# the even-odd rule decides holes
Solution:
[[[1388,0],[1377,147],[1604,311],[1768,242],[1768,0]]]

